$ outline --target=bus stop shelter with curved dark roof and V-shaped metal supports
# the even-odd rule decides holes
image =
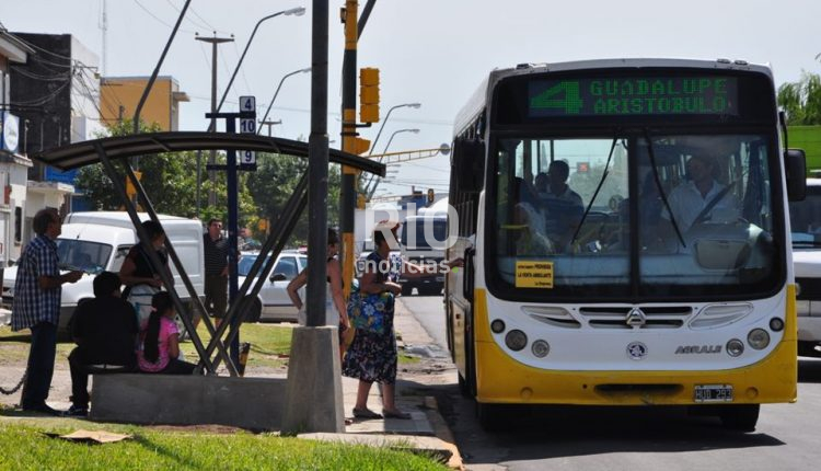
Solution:
[[[164,152],[211,149],[226,151],[252,150],[256,152],[277,153],[301,158],[307,158],[309,152],[308,142],[277,137],[258,136],[254,134],[173,131],[137,134],[86,140],[47,150],[33,156],[33,159],[62,171],[73,170],[94,163],[102,163],[106,175],[112,180],[115,191],[134,222],[140,243],[146,249],[146,253],[149,254],[151,263],[155,266],[160,266],[160,260],[154,251],[150,250],[151,242],[148,239],[148,234],[142,229],[139,215],[137,214],[137,207],[126,192],[126,177],[136,188],[137,196],[139,200],[142,202],[142,206],[149,217],[157,223],[160,223],[160,220],[149,196],[146,194],[144,188],[137,179],[134,169],[127,159]],[[360,171],[384,176],[385,165],[382,163],[335,149],[329,149],[328,152],[328,160],[333,163],[348,165]],[[118,171],[115,166],[114,162],[117,160],[124,161],[122,165],[123,171]],[[185,329],[190,335],[190,340],[199,356],[199,367],[205,368],[209,374],[216,374],[219,361],[222,360],[226,361],[230,375],[238,376],[236,365],[231,361],[224,345],[229,345],[239,334],[239,324],[242,321],[242,315],[244,314],[245,309],[250,308],[252,300],[256,298],[256,295],[262,289],[265,279],[267,279],[274,264],[276,263],[278,253],[285,246],[299,216],[308,204],[308,175],[303,174],[296,191],[287,202],[281,215],[279,215],[277,220],[271,221],[273,230],[263,244],[259,256],[256,257],[256,262],[245,277],[245,282],[242,287],[240,287],[238,296],[231,300],[228,312],[226,313],[224,322],[222,322],[218,329],[215,329],[208,315],[205,315],[205,306],[194,289],[190,279],[186,275],[185,268],[180,262],[173,244],[169,240],[165,241],[169,257],[174,264],[174,267],[182,278],[182,282],[192,299],[190,307],[186,307],[182,303],[180,296],[174,288],[173,280],[170,279],[164,271],[161,271],[162,282],[167,287],[172,299],[174,300],[175,308],[177,312],[181,313]],[[236,249],[232,248],[232,250]],[[266,256],[268,254],[271,256]],[[257,275],[261,276],[257,277]],[[252,284],[254,285],[253,288],[251,286]],[[193,309],[197,309],[204,314],[204,324],[211,336],[207,346],[194,330]],[[226,342],[222,342],[222,336],[224,335],[226,330],[231,325],[236,328],[232,329],[226,338]],[[217,356],[212,358],[215,351],[217,351]]]

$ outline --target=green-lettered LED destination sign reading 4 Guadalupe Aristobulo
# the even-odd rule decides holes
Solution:
[[[534,80],[530,117],[618,115],[738,115],[731,77]]]

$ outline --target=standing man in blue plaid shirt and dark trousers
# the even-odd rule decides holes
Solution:
[[[53,415],[58,415],[58,412],[46,404],[46,399],[57,353],[61,286],[76,283],[83,274],[73,271],[60,275],[55,240],[60,236],[61,227],[62,220],[56,209],[41,209],[34,216],[33,229],[37,237],[20,256],[11,312],[12,331],[32,331],[28,376],[20,405],[24,411]]]

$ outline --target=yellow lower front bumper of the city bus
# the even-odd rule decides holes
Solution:
[[[790,287],[793,288],[793,287]],[[795,294],[795,289],[789,290]],[[477,401],[497,404],[691,405],[696,386],[729,384],[727,404],[795,402],[798,359],[795,297],[787,302],[784,341],[753,365],[699,371],[565,371],[536,369],[510,358],[489,341],[485,292],[476,291]],[[483,335],[486,334],[486,335]],[[707,402],[715,404],[716,402]]]

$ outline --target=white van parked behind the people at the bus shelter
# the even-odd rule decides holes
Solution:
[[[140,212],[141,220],[148,220]],[[198,220],[175,216],[159,215],[165,234],[174,246],[180,261],[185,267],[197,295],[205,292],[205,265],[203,249],[203,225]],[[65,332],[77,305],[94,297],[94,277],[104,271],[119,272],[128,250],[138,243],[137,231],[131,219],[124,211],[71,212],[66,216],[62,233],[57,239],[57,253],[60,265],[66,269],[85,272],[79,282],[62,285],[60,301],[60,323],[58,331]],[[190,300],[180,274],[169,261],[174,275],[174,287],[183,299]],[[14,282],[18,267],[12,266],[3,273],[3,305],[11,308],[14,298]]]

